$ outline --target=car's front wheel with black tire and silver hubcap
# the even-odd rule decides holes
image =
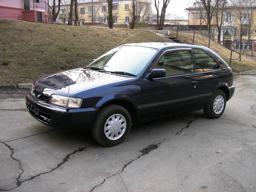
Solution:
[[[96,116],[92,136],[99,144],[110,147],[122,143],[128,136],[130,127],[129,112],[122,106],[110,104]]]

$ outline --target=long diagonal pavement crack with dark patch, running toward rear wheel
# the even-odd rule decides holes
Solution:
[[[202,115],[201,115],[201,116],[202,116]],[[124,171],[124,169],[125,169],[128,165],[130,165],[132,162],[138,160],[140,157],[142,157],[142,156],[144,156],[144,155],[147,155],[147,154],[150,153],[151,151],[157,149],[162,143],[164,143],[164,142],[166,142],[166,141],[168,141],[168,140],[171,140],[171,139],[173,139],[174,137],[180,136],[184,129],[189,128],[189,127],[190,127],[190,124],[191,124],[192,122],[194,122],[195,120],[198,120],[201,116],[198,116],[197,118],[194,118],[194,119],[192,119],[192,120],[189,120],[188,123],[185,125],[185,127],[184,127],[184,128],[181,128],[181,130],[178,131],[176,134],[174,134],[173,137],[168,138],[168,139],[165,139],[165,140],[162,140],[161,142],[158,142],[157,144],[151,144],[151,145],[149,145],[148,147],[146,147],[146,148],[140,150],[140,152],[142,153],[141,155],[139,155],[137,158],[135,158],[135,159],[129,161],[128,163],[126,163],[126,164],[122,167],[122,170],[121,170],[120,172],[115,173],[115,174],[112,174],[112,175],[110,175],[110,176],[104,178],[104,180],[103,180],[100,184],[94,186],[94,187],[90,190],[90,192],[92,192],[95,188],[102,186],[102,185],[104,184],[104,182],[106,182],[106,180],[107,180],[108,178],[111,178],[111,177],[113,177],[113,176],[116,176],[116,175],[118,175],[118,174],[121,174],[121,173]]]

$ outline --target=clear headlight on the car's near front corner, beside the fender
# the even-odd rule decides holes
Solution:
[[[82,104],[82,98],[68,97],[62,95],[52,95],[50,98],[50,102],[55,105],[67,107],[67,108],[80,108]],[[68,106],[67,106],[68,102]]]

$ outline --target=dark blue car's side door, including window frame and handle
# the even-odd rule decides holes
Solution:
[[[195,74],[192,49],[164,51],[151,70],[156,68],[165,69],[166,76],[151,79],[147,75],[144,78],[142,119],[196,108],[200,82],[198,74]]]

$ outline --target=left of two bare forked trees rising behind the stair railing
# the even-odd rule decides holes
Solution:
[[[208,37],[211,37],[212,17],[216,14],[216,7],[220,5],[221,0],[196,0],[196,4],[204,8],[207,16]]]

